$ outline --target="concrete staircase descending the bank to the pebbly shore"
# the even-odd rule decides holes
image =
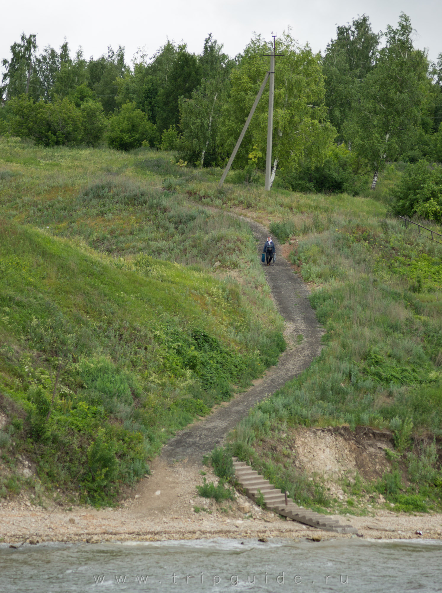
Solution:
[[[325,531],[335,531],[335,533],[358,533],[355,527],[351,525],[341,525],[337,519],[331,519],[326,515],[319,515],[315,511],[303,509],[294,504],[291,498],[287,499],[282,490],[277,490],[273,484],[265,480],[257,471],[252,470],[243,461],[238,461],[233,457],[233,468],[235,469],[235,476],[241,487],[244,489],[246,495],[257,502],[260,498],[264,498],[265,506],[271,511],[275,511],[278,515],[283,515],[293,521],[298,521],[311,527],[317,527]],[[258,492],[259,490],[259,492]]]

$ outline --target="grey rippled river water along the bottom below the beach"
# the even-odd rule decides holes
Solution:
[[[201,582],[202,581],[202,582]],[[271,540],[0,546],[5,593],[442,591],[442,541]]]

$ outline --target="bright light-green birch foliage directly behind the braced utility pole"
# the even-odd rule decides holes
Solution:
[[[241,132],[255,97],[268,70],[268,58],[273,44],[256,36],[245,49],[239,67],[232,71],[229,101],[223,110],[220,125],[220,144],[228,157]],[[326,119],[324,78],[321,56],[313,54],[309,46],[300,47],[289,33],[277,39],[275,94],[273,116],[273,162],[285,170],[296,170],[303,161],[312,164],[322,161],[336,130]],[[249,129],[242,142],[236,165],[248,164],[249,154],[261,153],[258,167],[264,167],[267,140],[268,85]]]

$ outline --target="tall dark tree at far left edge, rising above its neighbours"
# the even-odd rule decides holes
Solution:
[[[36,63],[37,42],[36,36],[20,36],[20,43],[11,45],[11,59],[2,60],[6,69],[2,76],[2,94],[7,99],[28,94],[30,91],[31,75]]]

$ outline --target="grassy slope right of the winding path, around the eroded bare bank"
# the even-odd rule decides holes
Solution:
[[[387,171],[377,192],[385,202],[391,178]],[[397,509],[440,507],[433,439],[442,437],[442,246],[403,228],[388,217],[387,203],[373,199],[245,186],[227,186],[220,195],[204,180],[191,192],[205,203],[246,209],[282,241],[292,239],[290,259],[310,282],[326,328],[321,356],[238,427],[236,454],[296,499],[324,506],[331,502],[320,484],[292,471],[290,427],[390,428],[398,450],[392,471],[355,496],[363,500],[374,490]]]

